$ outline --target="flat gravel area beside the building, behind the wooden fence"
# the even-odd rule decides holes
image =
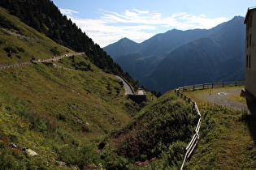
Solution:
[[[244,97],[241,97],[243,87],[219,87],[198,91],[186,91],[184,94],[199,102],[218,104],[235,110],[248,110]]]

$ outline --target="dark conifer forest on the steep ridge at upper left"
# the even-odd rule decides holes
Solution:
[[[71,19],[62,15],[58,7],[50,0],[2,0],[0,6],[8,9],[12,15],[20,17],[24,23],[37,29],[38,32],[44,33],[60,45],[76,52],[85,52],[89,60],[105,72],[121,74],[135,87],[138,86],[137,81],[134,81],[128,73],[124,74],[121,67],[85,32],[82,32],[76,23],[72,23]],[[0,19],[2,27],[20,32],[5,20],[4,18]]]

